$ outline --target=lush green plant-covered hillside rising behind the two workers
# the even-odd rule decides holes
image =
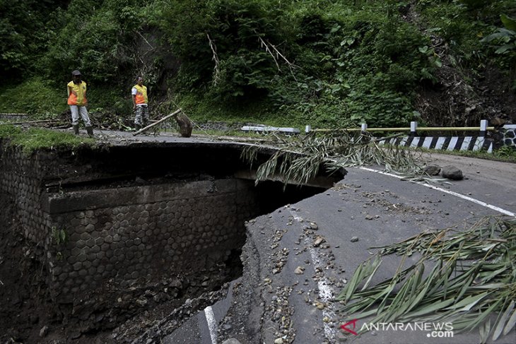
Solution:
[[[91,117],[335,128],[516,121],[513,0],[0,2],[0,112],[67,111],[80,69]]]

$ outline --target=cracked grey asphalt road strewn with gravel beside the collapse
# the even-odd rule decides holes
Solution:
[[[374,169],[351,168],[332,189],[248,223],[244,251],[257,253],[245,255],[245,283],[238,283],[234,295],[190,319],[164,343],[211,344],[228,338],[240,343],[340,343],[344,337],[370,344],[478,342],[476,331],[433,338],[428,331],[391,329],[351,338],[339,325],[352,319],[331,301],[358,264],[375,251],[370,247],[399,242],[423,230],[464,228],[483,215],[515,216],[516,165],[446,155],[431,160],[462,168],[466,179],[430,188]],[[311,222],[317,230],[306,230]],[[324,241],[314,247],[319,237]],[[351,237],[358,241],[351,242]],[[396,257],[385,259],[379,280],[391,276],[398,264]],[[295,273],[298,268],[302,274]],[[496,343],[516,343],[515,331]]]

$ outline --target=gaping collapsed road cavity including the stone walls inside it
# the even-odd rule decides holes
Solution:
[[[244,147],[131,143],[27,156],[0,141],[0,198],[13,219],[3,230],[35,252],[54,321],[80,336],[216,290],[242,273],[245,220],[344,177],[255,185],[258,164],[240,158]]]

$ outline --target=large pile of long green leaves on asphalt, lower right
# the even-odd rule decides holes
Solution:
[[[452,322],[454,331],[479,328],[481,343],[491,334],[496,340],[514,328],[516,220],[482,218],[463,232],[423,232],[379,248],[374,259],[358,266],[337,297],[353,319]],[[402,269],[414,253],[421,254],[421,259]],[[402,257],[398,271],[370,285],[387,254]],[[435,265],[425,275],[430,261]]]

